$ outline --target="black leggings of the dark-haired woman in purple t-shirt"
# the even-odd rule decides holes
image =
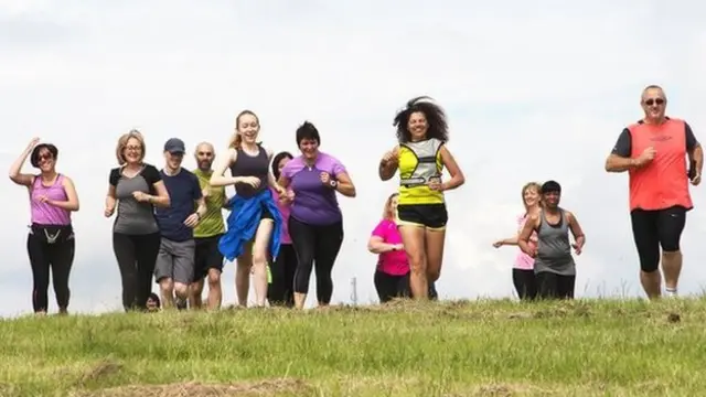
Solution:
[[[331,271],[341,244],[343,223],[318,226],[289,217],[289,235],[297,253],[295,292],[308,293],[311,270],[317,273],[317,299],[320,304],[329,304],[333,294]]]

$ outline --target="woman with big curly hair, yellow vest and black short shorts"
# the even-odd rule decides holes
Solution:
[[[429,298],[429,283],[439,279],[448,213],[443,192],[466,182],[446,146],[449,140],[443,110],[429,97],[407,103],[393,125],[399,143],[379,162],[381,180],[399,170],[396,224],[409,259],[410,287],[416,299]],[[451,178],[441,181],[446,168]]]

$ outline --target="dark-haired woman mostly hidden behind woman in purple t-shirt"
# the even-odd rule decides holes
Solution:
[[[272,159],[272,175],[275,179],[279,179],[285,165],[293,159],[289,152],[279,152]],[[291,244],[291,237],[289,236],[289,213],[290,206],[287,198],[279,198],[279,193],[276,189],[270,187],[272,196],[277,201],[277,207],[282,216],[282,238],[279,246],[279,255],[272,265],[270,265],[270,271],[272,275],[272,282],[267,289],[267,300],[270,305],[284,305],[292,308],[295,305],[295,272],[297,271],[297,253]]]

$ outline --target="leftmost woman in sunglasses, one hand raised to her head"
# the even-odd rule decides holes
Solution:
[[[58,150],[51,143],[39,143],[32,139],[26,149],[12,163],[10,180],[26,186],[30,192],[32,226],[26,239],[26,250],[32,265],[32,304],[34,312],[46,314],[49,309],[50,268],[54,282],[54,293],[58,312],[68,309],[68,277],[74,264],[76,242],[71,222],[71,213],[78,211],[78,196],[71,178],[56,172]],[[40,173],[20,173],[22,164],[30,157],[32,167]]]

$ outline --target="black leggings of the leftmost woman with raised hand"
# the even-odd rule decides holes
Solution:
[[[34,287],[32,289],[32,305],[34,312],[46,312],[49,310],[49,281],[50,268],[52,280],[54,281],[54,294],[60,311],[68,308],[71,291],[68,289],[68,277],[74,264],[76,251],[76,240],[71,226],[33,226],[33,232],[26,237],[26,251],[32,265],[32,278]],[[47,242],[49,236],[60,235],[54,243]]]

